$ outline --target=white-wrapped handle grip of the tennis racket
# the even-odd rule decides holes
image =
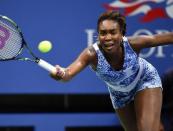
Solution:
[[[48,62],[42,59],[39,59],[38,65],[51,73],[56,72],[56,68],[53,65],[49,64]]]

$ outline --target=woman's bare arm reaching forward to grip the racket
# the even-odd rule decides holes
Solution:
[[[65,71],[63,73],[51,74],[51,77],[56,80],[61,81],[69,81],[76,74],[82,71],[86,66],[93,63],[96,60],[96,53],[93,51],[93,47],[88,47],[82,51],[82,53],[78,56],[78,58],[70,64],[67,68],[62,68],[60,66],[56,66],[57,70],[62,68]]]

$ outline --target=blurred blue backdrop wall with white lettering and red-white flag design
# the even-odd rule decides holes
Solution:
[[[0,1],[0,14],[19,25],[33,52],[64,67],[96,41],[98,16],[114,9],[127,18],[127,36],[173,31],[171,0]],[[43,40],[53,44],[48,53],[38,50]],[[173,46],[140,55],[161,76],[173,65]],[[119,124],[105,84],[90,68],[62,83],[34,63],[0,62],[0,131],[120,131]]]

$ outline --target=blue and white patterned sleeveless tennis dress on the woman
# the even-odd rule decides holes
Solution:
[[[146,60],[137,56],[126,37],[123,37],[123,46],[124,64],[123,68],[117,71],[107,62],[98,43],[93,44],[98,58],[95,72],[106,83],[114,109],[127,105],[140,90],[162,88],[157,70]]]

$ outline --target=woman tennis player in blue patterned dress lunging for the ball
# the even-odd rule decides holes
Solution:
[[[90,65],[106,83],[125,131],[159,131],[161,79],[157,70],[138,54],[143,48],[173,44],[173,33],[125,37],[125,17],[116,11],[100,15],[97,31],[98,41],[84,49],[67,68],[57,65],[57,73],[51,77],[69,81]]]

